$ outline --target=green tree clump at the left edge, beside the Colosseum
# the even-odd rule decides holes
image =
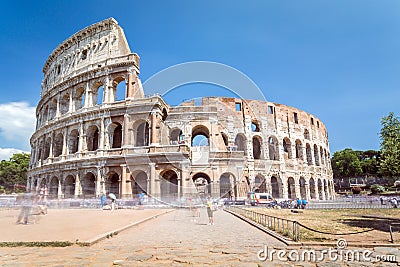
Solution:
[[[14,154],[10,160],[0,162],[0,185],[12,188],[14,185],[26,185],[26,173],[29,167],[30,155]]]

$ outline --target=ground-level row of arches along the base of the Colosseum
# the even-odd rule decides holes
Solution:
[[[179,181],[179,175],[175,170],[166,169],[159,173],[160,178],[160,198],[161,199],[177,199],[189,187],[183,187]],[[28,181],[31,183],[32,190],[38,190],[40,187],[48,186],[50,196],[64,196],[65,198],[71,197],[91,197],[99,194],[114,193],[121,196],[121,175],[116,171],[110,171],[101,179],[97,181],[95,172],[88,171],[82,177],[77,175],[68,174],[64,179],[57,176],[51,176],[49,179],[33,179]],[[150,188],[150,177],[144,170],[137,170],[130,175],[128,179],[130,183],[130,190],[128,195],[137,195],[141,192],[146,194],[154,193],[154,189]],[[219,176],[217,180],[212,180],[206,173],[197,172],[191,176],[191,181],[196,189],[195,192],[200,195],[212,195],[213,197],[232,198],[241,195],[240,182],[235,175],[230,172],[225,172]],[[244,190],[245,194],[250,191],[250,182],[246,178],[247,189]],[[40,186],[38,184],[40,182]],[[98,188],[100,187],[100,188]],[[316,199],[324,200],[331,199],[333,191],[333,182],[324,178],[314,179],[313,177],[306,179],[300,177],[295,179],[288,177],[282,181],[279,176],[271,176],[265,178],[263,175],[257,175],[254,180],[254,188],[252,191],[260,193],[269,193],[274,198],[288,198],[288,199]]]

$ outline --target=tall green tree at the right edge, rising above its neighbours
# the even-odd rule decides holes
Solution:
[[[381,162],[383,176],[400,177],[400,120],[393,112],[381,120]]]

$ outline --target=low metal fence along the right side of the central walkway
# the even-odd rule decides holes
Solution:
[[[260,213],[254,210],[243,209],[237,206],[227,207],[229,211],[241,215],[253,222],[281,234],[293,241],[300,240],[300,225],[297,221],[287,220]]]

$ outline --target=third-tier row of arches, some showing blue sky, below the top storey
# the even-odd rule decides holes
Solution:
[[[68,112],[78,111],[83,107],[113,103],[125,98],[126,78],[123,76],[117,76],[111,82],[96,81],[91,85],[77,86],[53,97],[42,106],[37,118],[38,126]]]

